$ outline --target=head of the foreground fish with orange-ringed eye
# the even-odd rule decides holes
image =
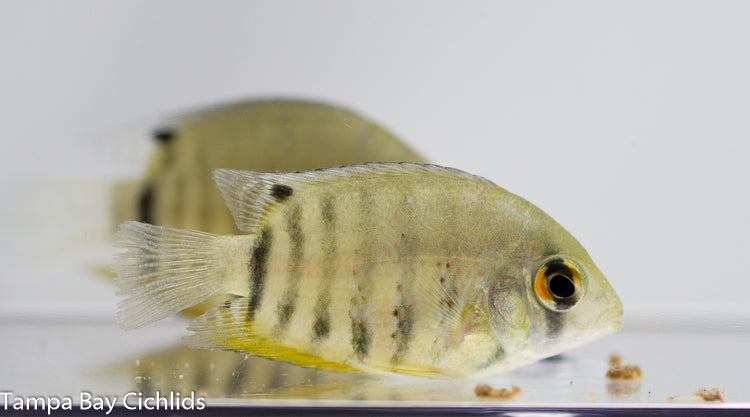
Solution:
[[[588,253],[564,239],[538,236],[513,265],[496,269],[488,286],[489,323],[517,364],[554,356],[622,327],[623,307]],[[552,248],[552,250],[550,250]]]

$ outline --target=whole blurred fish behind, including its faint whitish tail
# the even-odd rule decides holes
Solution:
[[[92,143],[92,155],[111,167],[107,174],[79,179],[61,173],[9,183],[6,200],[27,203],[5,207],[5,218],[13,219],[6,234],[18,240],[8,259],[24,259],[22,265],[103,253],[117,227],[129,220],[238,234],[211,180],[217,168],[289,172],[427,162],[382,123],[326,101],[250,97],[155,119]],[[83,214],[71,218],[73,212]],[[35,250],[24,250],[28,247]],[[111,281],[109,261],[87,261],[89,275]],[[206,306],[187,313],[202,314]]]

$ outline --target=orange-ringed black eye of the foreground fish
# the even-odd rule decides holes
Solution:
[[[552,258],[543,262],[537,271],[534,292],[545,308],[564,312],[578,304],[585,285],[581,268],[570,261]]]

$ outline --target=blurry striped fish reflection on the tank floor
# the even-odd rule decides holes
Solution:
[[[367,375],[292,365],[236,352],[185,346],[127,360],[129,391],[208,399],[473,400],[473,384],[403,375]]]

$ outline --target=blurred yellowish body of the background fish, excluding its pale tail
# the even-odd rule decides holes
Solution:
[[[126,220],[237,234],[213,186],[217,168],[291,172],[365,162],[427,160],[385,127],[321,101],[256,98],[160,121],[140,181],[113,192],[112,229]]]

